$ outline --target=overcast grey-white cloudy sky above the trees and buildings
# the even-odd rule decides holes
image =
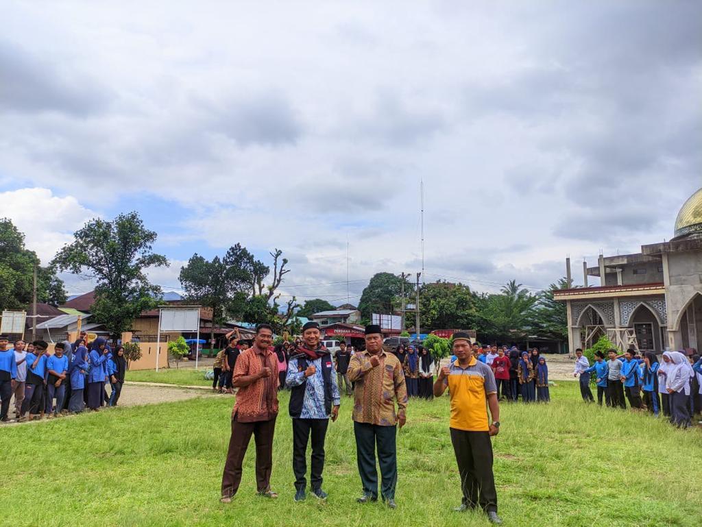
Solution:
[[[701,94],[698,1],[6,1],[0,215],[48,262],[136,210],[166,289],[279,247],[284,293],[335,303],[348,240],[355,303],[420,269],[423,179],[426,281],[582,281],[673,236]]]

